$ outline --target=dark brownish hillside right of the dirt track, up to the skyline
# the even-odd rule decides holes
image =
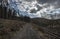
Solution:
[[[59,19],[48,20],[44,18],[37,18],[37,19],[32,19],[32,23],[35,25],[33,28],[37,29],[39,33],[42,32],[42,35],[47,37],[46,39],[60,39],[60,34],[59,34],[60,20]]]

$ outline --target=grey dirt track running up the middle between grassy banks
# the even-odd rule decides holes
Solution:
[[[23,30],[18,32],[13,39],[41,39],[31,24],[25,24]]]

